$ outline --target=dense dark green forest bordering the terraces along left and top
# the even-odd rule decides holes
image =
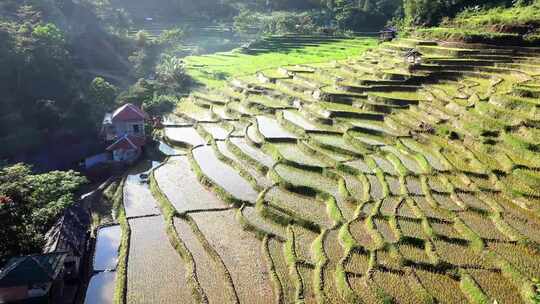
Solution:
[[[540,10],[527,0],[3,0],[0,219],[13,225],[0,227],[0,261],[35,251],[39,236],[85,182],[74,172],[40,175],[15,161],[43,147],[96,141],[103,114],[119,104],[133,102],[159,115],[189,91],[193,82],[176,56],[189,27],[175,23],[228,24],[239,35],[354,35],[387,25],[403,31],[459,27],[463,16],[523,7],[520,12],[534,16]],[[479,26],[534,36],[538,18],[527,16],[512,27]],[[130,33],[149,18],[173,26],[152,38]],[[60,185],[58,192],[45,184]],[[17,239],[26,241],[15,246]]]

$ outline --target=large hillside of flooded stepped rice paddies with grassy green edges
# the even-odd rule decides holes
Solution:
[[[194,298],[533,303],[539,51],[403,39],[191,95],[152,187]]]

